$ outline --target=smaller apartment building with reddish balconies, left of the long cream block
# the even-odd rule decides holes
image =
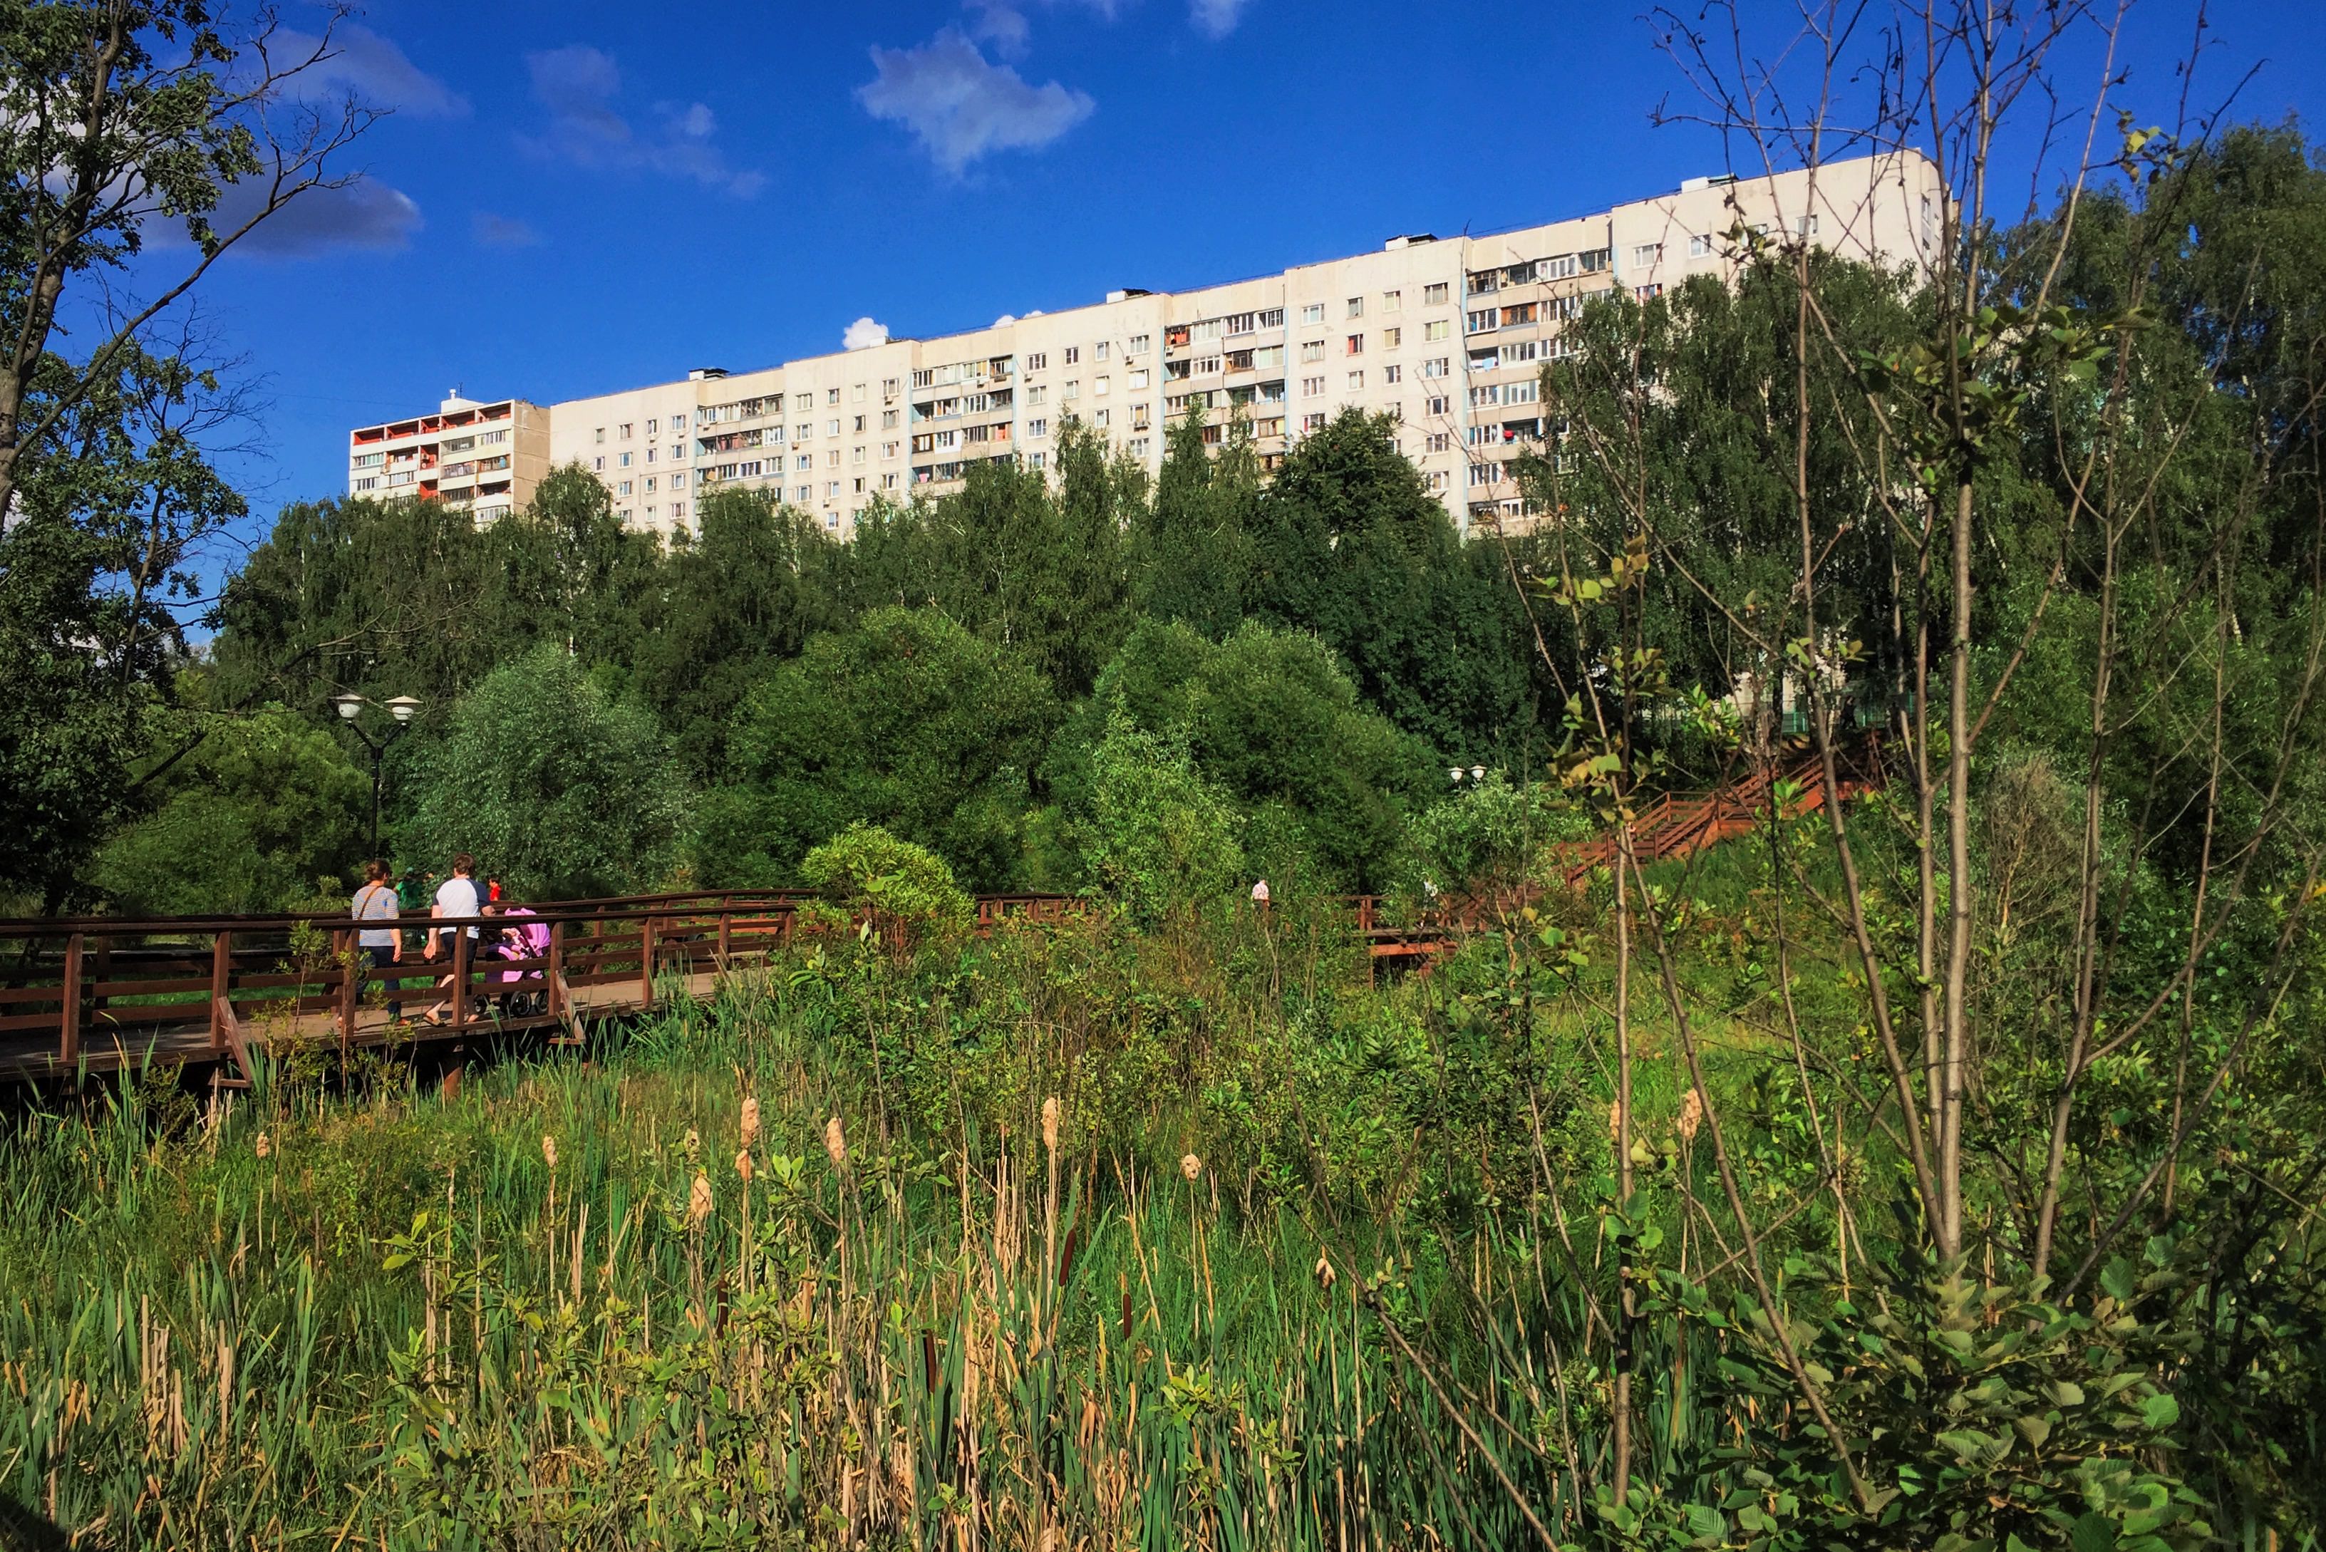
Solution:
[[[477,403],[454,391],[435,414],[347,433],[349,496],[442,500],[479,524],[530,503],[549,468],[549,410],[521,398]]]

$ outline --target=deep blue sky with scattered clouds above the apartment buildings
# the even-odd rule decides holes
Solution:
[[[2142,121],[2175,114],[2193,14],[2138,12]],[[2259,65],[2238,116],[2326,123],[2326,5],[2207,16],[2198,100]],[[335,74],[395,107],[349,163],[368,181],[205,291],[265,405],[267,451],[230,461],[263,519],[340,491],[349,426],[454,384],[549,403],[768,365],[861,316],[972,328],[1726,165],[1651,126],[1689,88],[1631,5],[379,0],[344,44]]]

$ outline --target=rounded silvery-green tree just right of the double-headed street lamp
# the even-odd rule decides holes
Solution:
[[[449,870],[472,852],[521,896],[640,894],[663,882],[686,786],[640,707],[542,645],[495,668],[412,740],[398,852]]]

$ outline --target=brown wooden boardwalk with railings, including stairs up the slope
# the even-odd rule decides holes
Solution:
[[[1842,793],[1863,786],[1851,779]],[[1714,793],[1656,798],[1633,821],[1633,856],[1691,856],[1751,831],[1777,798],[1786,814],[1805,814],[1824,807],[1824,786],[1793,768]],[[1561,868],[1579,884],[1612,859],[1614,840],[1600,838],[1570,847]],[[151,1059],[247,1084],[263,1049],[335,1047],[344,1059],[507,1033],[579,1040],[588,1019],[651,1010],[672,989],[709,994],[733,966],[786,949],[809,898],[700,891],[561,900],[528,907],[533,917],[405,917],[405,961],[388,970],[361,959],[361,926],[347,917],[0,921],[0,1082],[77,1080]],[[1377,896],[1340,900],[1375,970],[1426,970],[1524,903],[1461,896],[1400,917]],[[1077,910],[1072,896],[979,896],[977,931]],[[514,924],[542,931],[516,959],[491,952]],[[426,931],[444,933],[435,961],[419,956]],[[384,980],[407,1015],[442,1008],[440,1021],[391,1019]]]

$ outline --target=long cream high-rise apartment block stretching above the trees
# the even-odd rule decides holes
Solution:
[[[977,461],[1047,468],[1068,417],[1158,470],[1165,419],[1196,407],[1212,440],[1230,417],[1247,419],[1263,468],[1344,407],[1389,414],[1430,491],[1470,528],[1524,517],[1512,463],[1544,433],[1542,363],[1568,349],[1563,323],[1593,296],[1649,298],[1691,275],[1733,275],[1740,230],[1924,268],[1940,212],[1938,175],[1912,154],[1814,177],[1700,177],[1568,221],[1414,233],[1256,279],[1110,291],[968,333],[751,372],[705,368],[547,412],[507,403],[544,417],[554,465],[582,463],[623,521],[665,533],[691,524],[702,493],[758,486],[844,535],[872,500],[954,489]],[[358,451],[381,430],[358,430]],[[402,493],[358,486],[354,465],[349,475],[354,493]],[[442,498],[444,486],[414,493]],[[488,512],[481,496],[477,512]]]

